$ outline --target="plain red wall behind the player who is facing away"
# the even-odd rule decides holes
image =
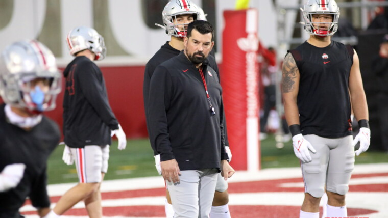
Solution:
[[[145,66],[101,67],[110,106],[128,138],[148,137],[143,104],[144,68]],[[63,87],[64,84],[62,84]],[[57,108],[46,112],[46,115],[55,120],[61,129],[63,93],[62,89],[57,98]]]

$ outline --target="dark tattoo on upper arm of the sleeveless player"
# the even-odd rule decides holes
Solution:
[[[298,67],[291,53],[284,58],[282,68],[282,93],[295,90],[295,78],[297,77]]]

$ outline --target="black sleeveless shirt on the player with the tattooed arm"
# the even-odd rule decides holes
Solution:
[[[288,52],[300,73],[297,104],[302,134],[326,138],[351,135],[348,88],[353,48],[335,41],[324,48],[304,42]]]

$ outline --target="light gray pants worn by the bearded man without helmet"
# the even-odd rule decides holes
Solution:
[[[214,198],[217,170],[183,170],[180,182],[166,181],[175,211],[174,218],[207,218]]]

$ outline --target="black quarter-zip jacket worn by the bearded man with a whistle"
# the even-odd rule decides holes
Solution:
[[[222,88],[205,60],[202,68],[215,115],[199,70],[184,55],[159,65],[151,78],[149,131],[161,161],[176,159],[181,170],[220,169],[225,152]]]

